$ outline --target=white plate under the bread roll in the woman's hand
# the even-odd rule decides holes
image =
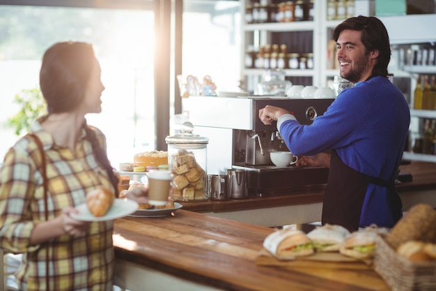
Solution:
[[[104,216],[93,216],[93,214],[89,212],[86,203],[80,204],[76,207],[76,209],[79,210],[78,214],[70,214],[70,216],[77,221],[112,221],[116,218],[132,214],[135,210],[138,209],[138,206],[139,205],[136,201],[127,198],[117,198],[114,201],[114,204],[112,204],[111,209],[109,209],[109,211],[107,211],[107,214],[104,214]]]

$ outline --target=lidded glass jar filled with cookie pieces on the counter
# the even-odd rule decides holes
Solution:
[[[173,200],[208,200],[207,176],[208,137],[193,133],[189,121],[182,124],[180,134],[165,138],[168,144],[169,169],[173,174]]]

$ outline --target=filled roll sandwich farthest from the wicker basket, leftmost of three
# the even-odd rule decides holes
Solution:
[[[279,259],[313,254],[311,239],[301,230],[277,230],[263,241],[263,247]]]

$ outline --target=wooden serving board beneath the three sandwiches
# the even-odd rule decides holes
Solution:
[[[314,253],[305,257],[290,260],[279,260],[265,248],[262,248],[257,257],[256,264],[263,266],[280,266],[293,268],[330,268],[330,269],[372,269],[372,260],[356,260],[337,252]]]

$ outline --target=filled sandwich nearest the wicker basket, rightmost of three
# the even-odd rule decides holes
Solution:
[[[373,258],[376,237],[375,232],[353,232],[345,239],[339,252],[359,260]]]

